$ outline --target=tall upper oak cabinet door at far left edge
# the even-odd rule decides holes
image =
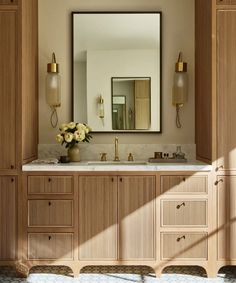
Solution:
[[[15,11],[0,11],[0,169],[15,167],[16,24]]]

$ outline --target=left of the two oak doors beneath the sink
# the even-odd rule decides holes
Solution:
[[[79,258],[117,259],[117,177],[79,177]]]

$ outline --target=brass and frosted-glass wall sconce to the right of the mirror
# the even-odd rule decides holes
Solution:
[[[178,62],[175,64],[174,83],[172,89],[172,103],[176,107],[176,127],[181,128],[180,108],[188,100],[188,75],[187,63],[183,62],[182,52],[179,53]]]

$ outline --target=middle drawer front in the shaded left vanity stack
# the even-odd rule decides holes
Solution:
[[[29,200],[28,225],[35,226],[73,226],[72,200]]]

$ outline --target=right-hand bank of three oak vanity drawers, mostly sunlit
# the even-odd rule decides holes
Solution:
[[[201,265],[209,275],[210,175],[161,173],[160,260]],[[211,190],[210,190],[211,191]]]

